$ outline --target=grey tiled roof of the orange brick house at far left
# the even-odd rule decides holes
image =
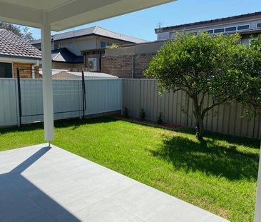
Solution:
[[[5,29],[0,29],[0,55],[41,59],[41,51]]]

